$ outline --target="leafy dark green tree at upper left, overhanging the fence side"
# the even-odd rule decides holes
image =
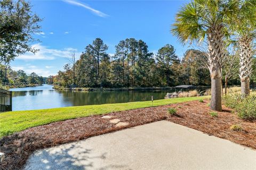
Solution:
[[[31,5],[25,0],[0,1],[0,64],[5,65],[5,81],[7,69],[15,57],[26,52],[35,53],[29,43],[41,28],[41,19],[31,12]]]

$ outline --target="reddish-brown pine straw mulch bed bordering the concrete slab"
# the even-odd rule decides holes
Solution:
[[[190,101],[108,114],[122,122],[130,123],[123,127],[116,127],[109,123],[109,119],[101,118],[102,115],[94,115],[30,128],[0,140],[0,151],[5,153],[1,169],[22,169],[28,157],[38,149],[160,120],[181,124],[256,149],[255,121],[241,120],[225,106],[223,106],[222,112],[218,112],[218,117],[212,117],[209,115],[210,109],[207,106],[209,101],[205,101],[205,103]],[[169,115],[167,113],[169,107],[176,108],[178,115]],[[243,131],[231,131],[230,126],[233,124],[241,125]]]

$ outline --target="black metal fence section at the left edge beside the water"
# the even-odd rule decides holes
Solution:
[[[12,92],[0,89],[0,112],[12,111]]]

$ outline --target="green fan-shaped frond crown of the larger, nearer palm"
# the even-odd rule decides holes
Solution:
[[[207,30],[216,28],[224,30],[236,20],[239,3],[240,0],[194,0],[180,8],[171,32],[181,43],[194,40],[202,42]],[[216,27],[218,25],[223,27]],[[230,30],[224,30],[227,38],[233,33],[229,32]]]

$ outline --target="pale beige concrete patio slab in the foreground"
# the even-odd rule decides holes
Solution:
[[[256,151],[159,121],[37,151],[25,169],[253,170]]]

